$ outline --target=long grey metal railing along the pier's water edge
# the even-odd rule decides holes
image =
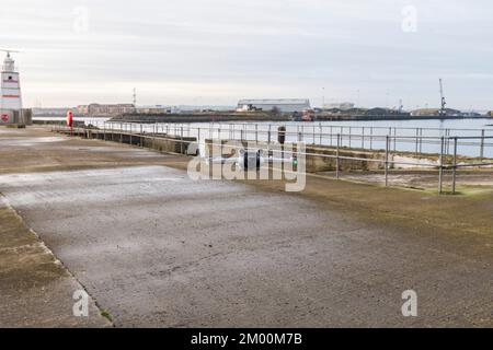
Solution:
[[[209,140],[207,143],[208,145],[216,145],[222,148],[230,148],[230,149],[241,149],[242,147],[234,145],[234,144],[223,144],[222,140],[230,140],[230,141],[254,141],[256,144],[256,148],[260,150],[263,150],[264,152],[270,152],[272,150],[272,144],[276,143],[275,139],[277,139],[275,136],[277,136],[278,131],[272,130],[270,128],[268,130],[254,130],[254,135],[250,135],[248,130],[243,129],[227,129],[225,131],[223,127],[218,126],[217,128],[213,127],[213,125],[208,125],[205,127],[199,126],[191,126],[191,125],[177,125],[177,124],[136,124],[136,122],[95,122],[90,125],[85,125],[83,127],[74,128],[71,131],[73,132],[82,132],[87,133],[89,130],[96,130],[99,132],[103,132],[103,139],[106,140],[106,135],[112,135],[112,140],[114,140],[113,136],[117,135],[119,136],[119,142],[123,142],[123,136],[129,136],[130,137],[130,143],[131,143],[131,137],[139,137],[140,140],[142,139],[161,139],[161,140],[173,140],[174,142],[180,142],[182,145],[184,143],[190,143],[190,140],[184,140],[184,138],[196,138],[197,144],[205,144],[205,140]],[[53,126],[53,131],[64,131],[68,132],[70,129],[65,126]],[[226,132],[226,135],[225,135]],[[238,135],[239,133],[239,135]],[[297,133],[297,132],[284,132],[286,136],[286,140],[288,140],[288,136],[296,137],[296,142],[305,142],[303,140],[303,133]],[[446,171],[450,171],[452,174],[452,184],[451,184],[451,194],[456,194],[457,188],[457,171],[459,168],[481,168],[481,167],[492,167],[493,166],[493,160],[485,160],[484,159],[484,148],[493,145],[493,136],[485,136],[484,132],[482,132],[481,137],[457,137],[457,136],[442,136],[442,137],[427,137],[422,136],[416,141],[415,137],[405,137],[405,136],[395,136],[395,132],[389,132],[390,135],[381,136],[381,135],[354,135],[354,133],[314,133],[316,137],[320,138],[329,138],[330,147],[324,148],[324,153],[314,153],[313,151],[310,152],[303,152],[301,155],[303,156],[312,156],[312,158],[321,158],[321,159],[333,159],[335,160],[335,177],[340,178],[341,173],[341,161],[359,161],[359,162],[367,162],[367,163],[374,163],[377,164],[377,166],[381,166],[383,168],[383,176],[385,176],[385,185],[389,186],[389,172],[392,167],[399,167],[399,166],[406,166],[406,167],[416,167],[416,168],[431,168],[431,170],[437,170],[438,171],[438,192],[444,192],[444,175]],[[262,136],[262,137],[261,137]],[[365,138],[369,137],[370,139],[367,140],[369,142],[374,141],[382,141],[385,143],[385,147],[381,149],[378,149],[378,152],[381,152],[383,158],[382,159],[375,159],[375,158],[364,158],[364,156],[357,156],[357,155],[343,155],[341,152],[352,150],[351,142],[349,145],[344,144],[343,140],[346,140],[346,143],[349,138],[364,140]],[[252,140],[253,138],[253,140]],[[265,141],[263,139],[266,139]],[[289,141],[288,141],[289,142]],[[365,141],[363,141],[364,143]],[[436,163],[423,163],[423,162],[413,162],[413,161],[403,161],[403,160],[395,160],[393,155],[395,153],[400,153],[400,151],[397,150],[395,144],[398,142],[416,142],[416,150],[423,143],[427,144],[437,144],[439,147],[439,152],[437,153],[438,160]],[[420,143],[417,143],[420,142]],[[465,159],[461,156],[461,162],[459,162],[459,147],[460,145],[479,145],[481,148],[481,156],[480,158],[467,158]],[[142,145],[142,142],[140,142],[140,145]],[[314,144],[317,145],[317,144]],[[364,148],[362,148],[364,149]],[[353,149],[354,150],[354,149]],[[183,153],[183,147],[182,147],[182,153]],[[416,153],[419,153],[416,151]],[[205,150],[202,152],[203,155],[205,155]]]

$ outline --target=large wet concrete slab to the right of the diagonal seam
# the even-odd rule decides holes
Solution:
[[[0,191],[116,326],[493,326],[490,237],[358,219],[310,195],[193,182],[151,151],[115,145],[95,167],[102,142],[43,154],[60,147],[85,154],[87,168],[10,164]],[[401,314],[405,290],[417,292],[419,317]]]

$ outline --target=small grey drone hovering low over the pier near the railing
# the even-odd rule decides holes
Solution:
[[[207,164],[236,164],[242,170],[253,171],[260,170],[264,164],[283,164],[291,163],[298,165],[297,158],[275,158],[273,155],[264,155],[261,149],[240,149],[237,156],[230,158],[206,158]]]

